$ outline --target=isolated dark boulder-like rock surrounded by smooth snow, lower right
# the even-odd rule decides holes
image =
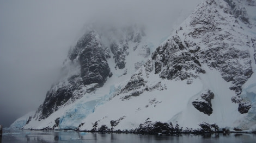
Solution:
[[[214,93],[210,90],[205,90],[205,92],[200,95],[200,98],[192,101],[192,105],[194,108],[198,109],[198,111],[210,116],[213,111],[211,108],[212,99],[214,99]]]

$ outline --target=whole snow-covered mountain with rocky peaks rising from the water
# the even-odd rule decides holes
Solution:
[[[205,0],[155,50],[143,27],[92,26],[38,111],[11,127],[256,131],[255,14],[252,0]]]

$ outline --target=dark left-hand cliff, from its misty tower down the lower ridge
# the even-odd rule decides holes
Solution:
[[[94,30],[86,32],[70,51],[69,62],[66,61],[66,67],[63,68],[63,72],[79,68],[80,71],[69,74],[52,86],[46,94],[44,103],[38,109],[38,120],[47,118],[65,103],[74,102],[84,94],[103,86],[110,73],[108,55],[102,47],[99,34]],[[68,69],[70,66],[74,69]]]

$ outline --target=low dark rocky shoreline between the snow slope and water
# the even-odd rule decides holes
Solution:
[[[139,127],[131,130],[113,130],[107,128],[106,125],[102,125],[100,128],[93,128],[91,130],[79,130],[79,127],[76,129],[31,129],[31,130],[38,130],[38,131],[53,131],[53,130],[62,130],[62,131],[76,131],[76,132],[88,132],[88,133],[120,133],[120,134],[149,134],[149,135],[213,135],[215,134],[216,137],[218,134],[229,135],[230,133],[248,133],[248,134],[256,134],[256,132],[252,131],[243,131],[239,128],[227,129],[227,128],[219,128],[216,124],[208,124],[206,122],[202,122],[199,124],[200,128],[192,129],[192,128],[184,128],[179,127],[178,124],[173,126],[170,122],[169,124],[162,123],[162,122],[145,122],[144,124],[139,125]]]

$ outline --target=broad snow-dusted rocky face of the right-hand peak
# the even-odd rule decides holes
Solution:
[[[255,37],[249,37],[241,27],[243,23],[252,28],[246,9],[241,5],[240,1],[203,2],[176,34],[153,52],[154,74],[162,79],[187,80],[187,84],[191,84],[200,73],[205,74],[202,64],[206,64],[231,82],[229,89],[234,90],[235,95],[230,100],[239,103],[240,113],[247,113],[251,105],[239,95],[243,84],[253,74],[249,49]],[[124,90],[130,90],[133,76]],[[144,81],[139,76],[137,80],[141,81],[137,85]]]

